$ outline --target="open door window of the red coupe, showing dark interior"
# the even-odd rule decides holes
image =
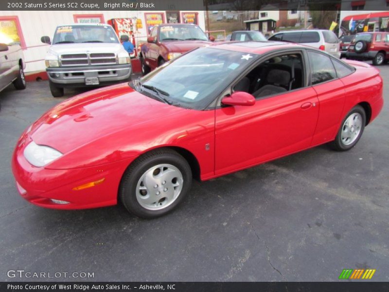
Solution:
[[[232,91],[248,92],[256,99],[304,87],[304,66],[300,53],[271,57],[236,83]]]

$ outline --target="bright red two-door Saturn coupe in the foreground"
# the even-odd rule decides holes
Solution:
[[[383,107],[378,70],[280,42],[196,49],[46,112],[12,169],[35,205],[155,218],[202,181],[331,142],[349,150]]]

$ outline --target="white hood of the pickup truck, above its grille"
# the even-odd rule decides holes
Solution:
[[[56,44],[49,48],[49,53],[55,55],[76,54],[76,53],[116,53],[122,49],[117,43],[78,43],[78,44]]]

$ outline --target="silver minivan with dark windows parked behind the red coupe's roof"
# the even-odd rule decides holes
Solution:
[[[340,41],[330,30],[283,31],[274,34],[268,40],[295,42],[325,51],[337,58],[340,57]]]

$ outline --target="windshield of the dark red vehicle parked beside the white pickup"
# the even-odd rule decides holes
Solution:
[[[208,40],[196,25],[166,25],[159,28],[159,41],[166,40]]]

